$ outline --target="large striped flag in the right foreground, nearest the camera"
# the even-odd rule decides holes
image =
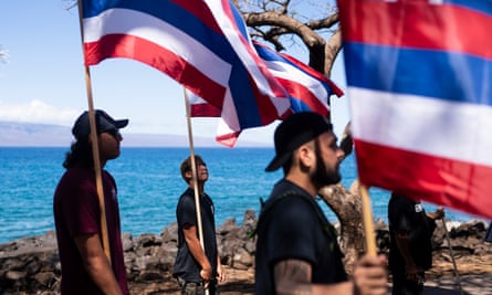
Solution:
[[[492,218],[492,2],[338,9],[362,183]]]

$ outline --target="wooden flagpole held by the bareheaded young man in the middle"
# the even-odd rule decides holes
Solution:
[[[195,207],[197,209],[198,239],[200,240],[200,245],[205,253],[203,228],[201,225],[200,196],[198,194],[198,176],[197,176],[197,166],[195,160],[193,135],[191,130],[191,110],[186,88],[184,87],[182,91],[184,91],[185,106],[186,106],[186,123],[188,125],[188,141],[190,146],[191,175],[193,179],[193,191],[195,191]],[[206,295],[209,294],[208,288],[205,292]]]

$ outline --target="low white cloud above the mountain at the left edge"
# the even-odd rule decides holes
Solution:
[[[71,126],[81,110],[57,108],[39,99],[29,103],[8,104],[0,102],[0,120],[42,123]]]

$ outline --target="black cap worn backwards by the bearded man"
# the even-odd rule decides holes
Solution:
[[[332,131],[333,127],[322,115],[303,112],[295,113],[282,122],[275,129],[275,157],[265,171],[282,167],[303,144],[316,138],[322,133]]]

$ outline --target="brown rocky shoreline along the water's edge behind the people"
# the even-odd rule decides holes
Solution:
[[[221,261],[228,275],[220,286],[221,294],[254,292],[255,241],[249,234],[255,223],[254,212],[247,211],[241,225],[230,219],[217,229]],[[492,244],[483,241],[488,224],[478,220],[446,222],[447,229],[443,224],[438,221],[433,235],[433,267],[428,277],[453,276],[452,257],[462,275],[492,274]],[[375,230],[379,251],[387,253],[388,226],[376,221]],[[179,294],[170,275],[177,253],[176,224],[164,228],[160,235],[125,233],[123,244],[132,294]],[[0,294],[60,294],[61,266],[52,231],[0,244]]]

